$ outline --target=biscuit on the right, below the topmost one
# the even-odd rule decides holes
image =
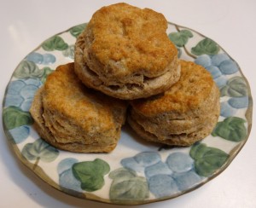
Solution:
[[[143,138],[189,146],[218,122],[219,90],[205,68],[181,61],[181,77],[161,95],[131,101],[128,123]]]

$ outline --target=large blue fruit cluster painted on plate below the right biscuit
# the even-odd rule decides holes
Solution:
[[[157,198],[176,194],[201,182],[194,163],[188,153],[170,153],[165,162],[155,152],[138,153],[121,160],[125,168],[144,173],[150,192]]]

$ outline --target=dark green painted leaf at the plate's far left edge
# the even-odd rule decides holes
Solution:
[[[33,120],[30,113],[23,112],[20,110],[20,107],[7,107],[3,109],[3,124],[8,130],[32,123]]]

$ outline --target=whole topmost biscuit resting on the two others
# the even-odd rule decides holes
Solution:
[[[159,94],[180,76],[177,49],[163,14],[126,3],[93,14],[75,44],[75,72],[83,83],[119,99]]]

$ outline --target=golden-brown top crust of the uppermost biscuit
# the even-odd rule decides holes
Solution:
[[[165,73],[177,57],[166,29],[163,14],[126,3],[112,4],[93,14],[84,31],[90,38],[90,45],[85,47],[106,66],[102,69],[106,74],[153,78]]]

